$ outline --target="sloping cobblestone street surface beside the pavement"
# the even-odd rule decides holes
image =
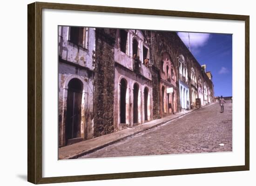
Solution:
[[[80,158],[227,151],[232,151],[232,103],[224,105],[224,113],[214,103]]]

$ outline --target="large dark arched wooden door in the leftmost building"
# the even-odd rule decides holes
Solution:
[[[69,139],[81,137],[81,103],[83,83],[73,78],[67,89],[66,143]]]

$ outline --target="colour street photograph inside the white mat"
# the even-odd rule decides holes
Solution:
[[[232,152],[232,34],[58,26],[58,159]]]

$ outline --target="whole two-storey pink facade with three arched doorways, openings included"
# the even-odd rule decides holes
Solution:
[[[116,30],[115,131],[153,119],[149,53],[147,38],[141,31]]]

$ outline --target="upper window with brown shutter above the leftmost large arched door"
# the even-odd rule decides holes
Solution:
[[[83,48],[88,48],[88,28],[71,26],[69,41]]]

